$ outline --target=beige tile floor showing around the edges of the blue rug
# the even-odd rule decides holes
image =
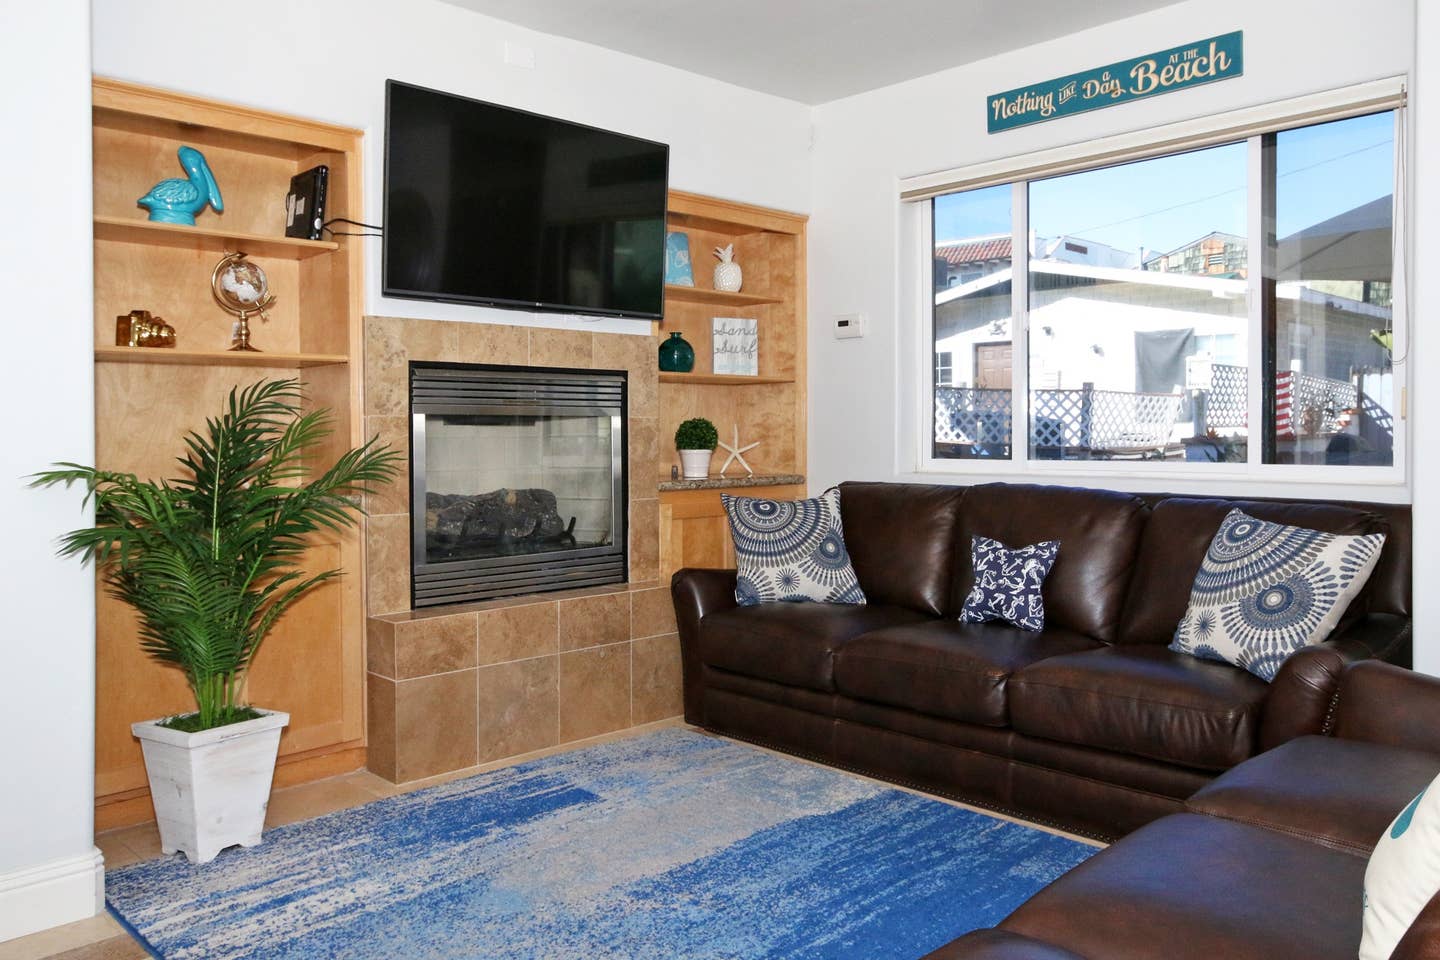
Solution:
[[[487,770],[524,763],[537,757],[547,757],[550,754],[577,750],[598,743],[622,740],[649,730],[660,730],[662,727],[684,725],[685,723],[681,720],[662,720],[644,727],[634,727],[613,734],[605,734],[602,737],[592,737],[590,740],[567,743],[562,747],[536,750],[534,753],[521,754],[518,757],[508,757],[505,760],[485,763],[478,767],[455,770],[454,773],[431,777],[429,780],[416,780],[403,786],[396,786],[387,780],[382,780],[367,770],[356,770],[354,773],[330,777],[328,780],[317,780],[314,783],[302,783],[300,786],[275,790],[271,794],[271,805],[269,812],[265,816],[265,825],[281,826],[282,823],[308,820],[311,818],[324,816],[325,813],[334,813],[336,810],[360,806],[361,803],[369,803],[370,800],[379,800],[397,793],[409,793],[412,790],[422,790],[425,787],[435,786],[436,783],[471,777],[477,773],[485,773]],[[811,761],[802,760],[801,763]],[[907,787],[896,789],[906,790]],[[943,797],[932,799],[940,799],[945,803],[952,803],[952,800],[945,800]],[[963,807],[966,805],[955,803],[955,806]],[[991,816],[999,816],[989,810],[979,812],[989,813]],[[1024,823],[1024,820],[1017,822]],[[1099,846],[1094,841],[1083,836],[1073,836],[1063,830],[1054,830],[1034,823],[1027,823],[1027,826],[1034,826],[1035,829],[1058,833],[1060,836],[1070,836],[1081,843]],[[134,864],[161,855],[160,835],[156,832],[154,823],[141,823],[138,826],[127,826],[118,830],[107,830],[105,833],[95,836],[95,845],[105,855],[107,868],[118,868],[125,864]],[[144,948],[131,940],[131,937],[108,914],[68,924],[65,927],[45,930],[29,937],[0,943],[0,960],[147,960],[147,957],[148,954]]]

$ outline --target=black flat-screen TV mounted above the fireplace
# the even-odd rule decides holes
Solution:
[[[386,296],[661,315],[670,147],[386,83]]]

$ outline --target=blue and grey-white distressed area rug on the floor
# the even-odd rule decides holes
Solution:
[[[166,960],[910,960],[1093,848],[661,730],[111,871]]]

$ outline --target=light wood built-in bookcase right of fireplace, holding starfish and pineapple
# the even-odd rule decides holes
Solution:
[[[805,226],[806,217],[746,203],[671,190],[668,229],[690,236],[694,286],[665,286],[664,340],[680,331],[696,348],[691,373],[660,374],[661,481],[678,463],[674,436],[681,420],[703,416],[720,439],[740,427],[744,443],[760,446],[744,458],[757,475],[805,474]],[[713,288],[711,250],[734,245],[744,284],[739,294]],[[759,321],[759,376],[711,371],[711,321],[746,317]],[[711,471],[724,462],[716,450]],[[740,474],[732,468],[732,475]],[[752,497],[804,497],[804,485],[736,488]],[[661,491],[661,577],[683,566],[733,567],[730,527],[720,489]]]

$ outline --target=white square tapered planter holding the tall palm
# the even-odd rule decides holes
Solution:
[[[150,776],[160,849],[207,864],[226,846],[255,846],[265,829],[279,731],[289,714],[187,734],[157,720],[131,724]]]

